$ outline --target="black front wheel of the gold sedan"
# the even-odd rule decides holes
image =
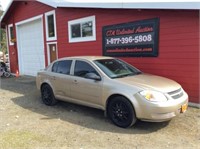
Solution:
[[[131,127],[137,121],[132,104],[122,96],[110,100],[107,112],[111,121],[122,128]]]

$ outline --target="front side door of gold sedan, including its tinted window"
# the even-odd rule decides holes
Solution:
[[[71,85],[71,97],[81,102],[101,105],[103,81],[85,78],[87,73],[95,73],[99,76],[99,73],[88,62],[76,60]]]

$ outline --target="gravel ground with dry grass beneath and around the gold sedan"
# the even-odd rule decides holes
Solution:
[[[189,108],[170,122],[138,121],[122,129],[103,111],[41,102],[35,79],[0,80],[0,149],[200,149],[200,109]]]

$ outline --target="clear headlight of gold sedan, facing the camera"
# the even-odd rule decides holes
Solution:
[[[140,92],[140,95],[142,95],[146,100],[152,101],[152,102],[167,101],[167,97],[163,93],[160,93],[157,91],[145,90],[145,91]]]

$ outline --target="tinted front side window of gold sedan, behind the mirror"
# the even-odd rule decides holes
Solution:
[[[95,73],[99,76],[97,71],[88,63],[77,60],[75,63],[74,75],[79,77],[85,77],[87,73]]]

